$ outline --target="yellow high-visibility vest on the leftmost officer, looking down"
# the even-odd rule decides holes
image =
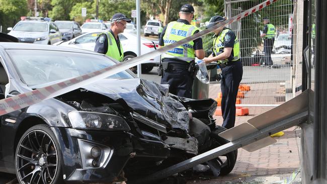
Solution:
[[[121,55],[120,55],[114,35],[112,35],[109,31],[107,31],[107,32],[101,33],[99,36],[101,36],[103,34],[107,35],[107,40],[108,40],[108,51],[107,51],[106,55],[116,59],[117,61],[122,61],[123,57],[124,57],[124,51],[123,51],[123,46],[121,45],[121,43],[119,42],[120,52],[121,52]]]

